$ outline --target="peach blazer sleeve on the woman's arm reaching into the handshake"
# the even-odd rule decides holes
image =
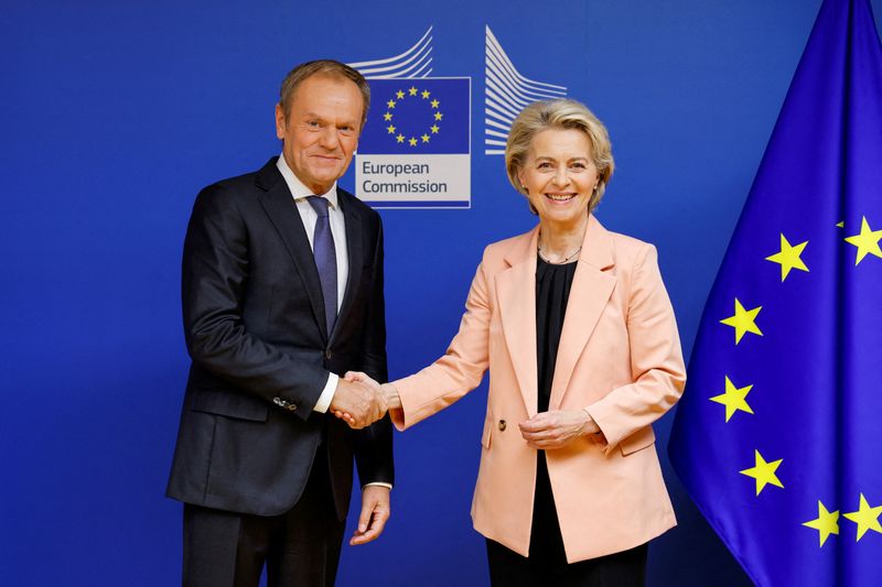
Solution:
[[[405,430],[440,412],[481,384],[488,366],[492,316],[486,260],[472,281],[460,330],[443,357],[416,374],[394,381],[401,409],[390,410],[392,423]]]

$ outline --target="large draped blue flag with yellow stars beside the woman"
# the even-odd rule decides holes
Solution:
[[[759,585],[882,584],[882,47],[825,0],[708,298],[670,457]]]

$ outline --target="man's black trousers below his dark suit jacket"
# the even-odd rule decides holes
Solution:
[[[326,587],[336,578],[346,522],[338,521],[324,450],[297,504],[276,517],[184,504],[185,587]]]

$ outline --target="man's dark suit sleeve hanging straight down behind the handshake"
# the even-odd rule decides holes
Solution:
[[[379,224],[379,217],[377,217],[377,221]],[[381,224],[378,227],[377,242],[373,254],[373,286],[362,343],[361,370],[376,381],[388,381]],[[386,415],[383,420],[365,428],[351,431],[351,434],[355,437],[355,465],[362,487],[377,481],[395,485],[392,426],[389,416]]]

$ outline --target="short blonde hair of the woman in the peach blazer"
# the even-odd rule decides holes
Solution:
[[[576,129],[584,132],[591,143],[591,157],[598,170],[598,187],[591,194],[588,210],[593,210],[606,191],[606,184],[613,175],[612,144],[606,127],[582,102],[559,98],[541,100],[527,106],[512,123],[508,141],[505,144],[505,170],[508,181],[519,193],[527,195],[520,184],[518,172],[524,169],[533,139],[544,130]],[[533,210],[533,206],[530,206]],[[533,210],[534,214],[536,210]]]

